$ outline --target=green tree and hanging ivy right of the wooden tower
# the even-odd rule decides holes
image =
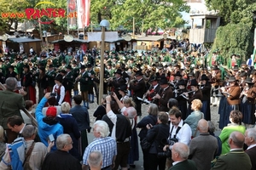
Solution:
[[[253,52],[253,31],[256,26],[254,0],[206,0],[207,7],[218,9],[222,17],[212,49],[219,49],[225,59],[240,54],[245,60]],[[255,17],[255,16],[254,16]]]

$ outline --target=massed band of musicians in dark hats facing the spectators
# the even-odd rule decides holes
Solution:
[[[115,92],[121,99],[119,90],[127,92],[125,95],[131,96],[136,104],[138,116],[142,115],[145,100],[158,105],[160,111],[169,111],[168,100],[174,98],[185,119],[191,113],[191,101],[201,99],[201,111],[207,120],[211,120],[210,105],[219,103],[220,128],[229,122],[226,114],[235,109],[247,114],[243,118],[245,123],[255,122],[256,71],[253,67],[245,63],[237,65],[234,55],[229,67],[223,65],[224,59],[218,52],[213,52],[212,61],[207,61],[203,53],[173,51],[106,51],[104,63],[100,63],[99,53],[90,50],[84,52],[83,57],[54,50],[49,54],[42,51],[39,56],[7,54],[0,59],[0,82],[16,77],[18,87],[26,91],[24,98],[35,104],[36,96],[40,100],[47,92],[56,93],[60,101],[63,88],[61,101],[71,104],[72,94],[79,94],[80,90],[84,106],[89,109],[95,94],[98,97],[100,65],[104,65],[104,94]]]

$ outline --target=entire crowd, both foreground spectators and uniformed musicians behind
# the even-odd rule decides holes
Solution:
[[[207,54],[166,47],[104,57],[104,95],[92,114],[90,144],[88,110],[100,82],[96,48],[0,60],[1,169],[131,169],[139,144],[145,170],[256,168],[256,71],[240,56],[232,55],[227,67],[218,51],[212,66]],[[20,110],[34,104],[31,125],[30,113]],[[211,105],[218,105],[218,137]]]

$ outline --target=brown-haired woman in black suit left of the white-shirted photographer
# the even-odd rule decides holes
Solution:
[[[165,170],[166,168],[166,156],[159,156],[162,153],[165,144],[162,140],[167,139],[169,135],[170,127],[167,125],[168,116],[166,112],[160,111],[157,118],[158,124],[152,126],[147,125],[148,133],[146,139],[151,142],[151,147],[148,150],[148,169],[155,170],[159,167],[159,170]]]

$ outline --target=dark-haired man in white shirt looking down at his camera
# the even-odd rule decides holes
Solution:
[[[170,136],[163,150],[172,150],[172,145],[175,144],[176,142],[189,145],[192,136],[192,131],[189,125],[183,122],[182,112],[179,111],[177,107],[172,107],[172,109],[169,111],[169,118],[171,121],[169,133]],[[171,158],[167,158],[166,167],[168,167],[168,169],[172,167]]]

